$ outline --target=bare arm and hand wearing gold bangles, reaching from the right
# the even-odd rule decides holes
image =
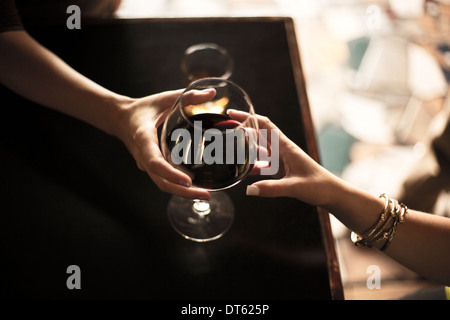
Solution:
[[[278,130],[265,117],[259,117],[259,125]],[[280,179],[262,180],[248,186],[247,194],[288,196],[321,206],[356,233],[377,222],[385,206],[383,199],[334,176],[281,132],[279,136],[283,175]],[[450,219],[409,209],[406,222],[399,224],[384,252],[411,270],[450,285]]]

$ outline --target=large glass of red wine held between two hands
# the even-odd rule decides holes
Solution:
[[[199,94],[208,90],[205,95]],[[239,121],[230,117],[240,114]],[[209,201],[172,196],[168,217],[174,229],[197,242],[220,238],[231,226],[234,205],[223,190],[253,168],[257,120],[245,91],[230,80],[204,78],[180,95],[161,131],[165,159],[188,174],[194,187],[211,191]]]

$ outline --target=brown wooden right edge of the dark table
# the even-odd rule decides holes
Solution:
[[[298,99],[301,106],[303,116],[303,124],[306,131],[306,143],[309,155],[318,163],[320,163],[319,152],[317,149],[316,135],[311,117],[308,96],[306,92],[305,78],[300,58],[300,48],[298,47],[297,38],[295,34],[295,25],[292,18],[285,18],[287,41],[289,45],[291,63],[294,73],[294,78],[297,86]],[[329,213],[317,208],[319,215],[322,235],[324,239],[325,251],[327,254],[327,266],[330,279],[331,297],[333,300],[343,300],[344,291],[342,287],[341,273],[339,261],[336,254],[335,242],[331,230]]]

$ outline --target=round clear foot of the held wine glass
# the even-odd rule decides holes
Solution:
[[[219,239],[230,229],[234,205],[225,192],[211,192],[209,201],[172,196],[167,214],[173,228],[184,238],[206,242]]]

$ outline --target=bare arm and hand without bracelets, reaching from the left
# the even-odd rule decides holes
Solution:
[[[116,94],[72,69],[26,31],[0,33],[0,83],[118,137],[162,191],[209,198],[208,192],[190,187],[189,176],[167,163],[159,150],[157,127],[181,91],[139,99]]]

